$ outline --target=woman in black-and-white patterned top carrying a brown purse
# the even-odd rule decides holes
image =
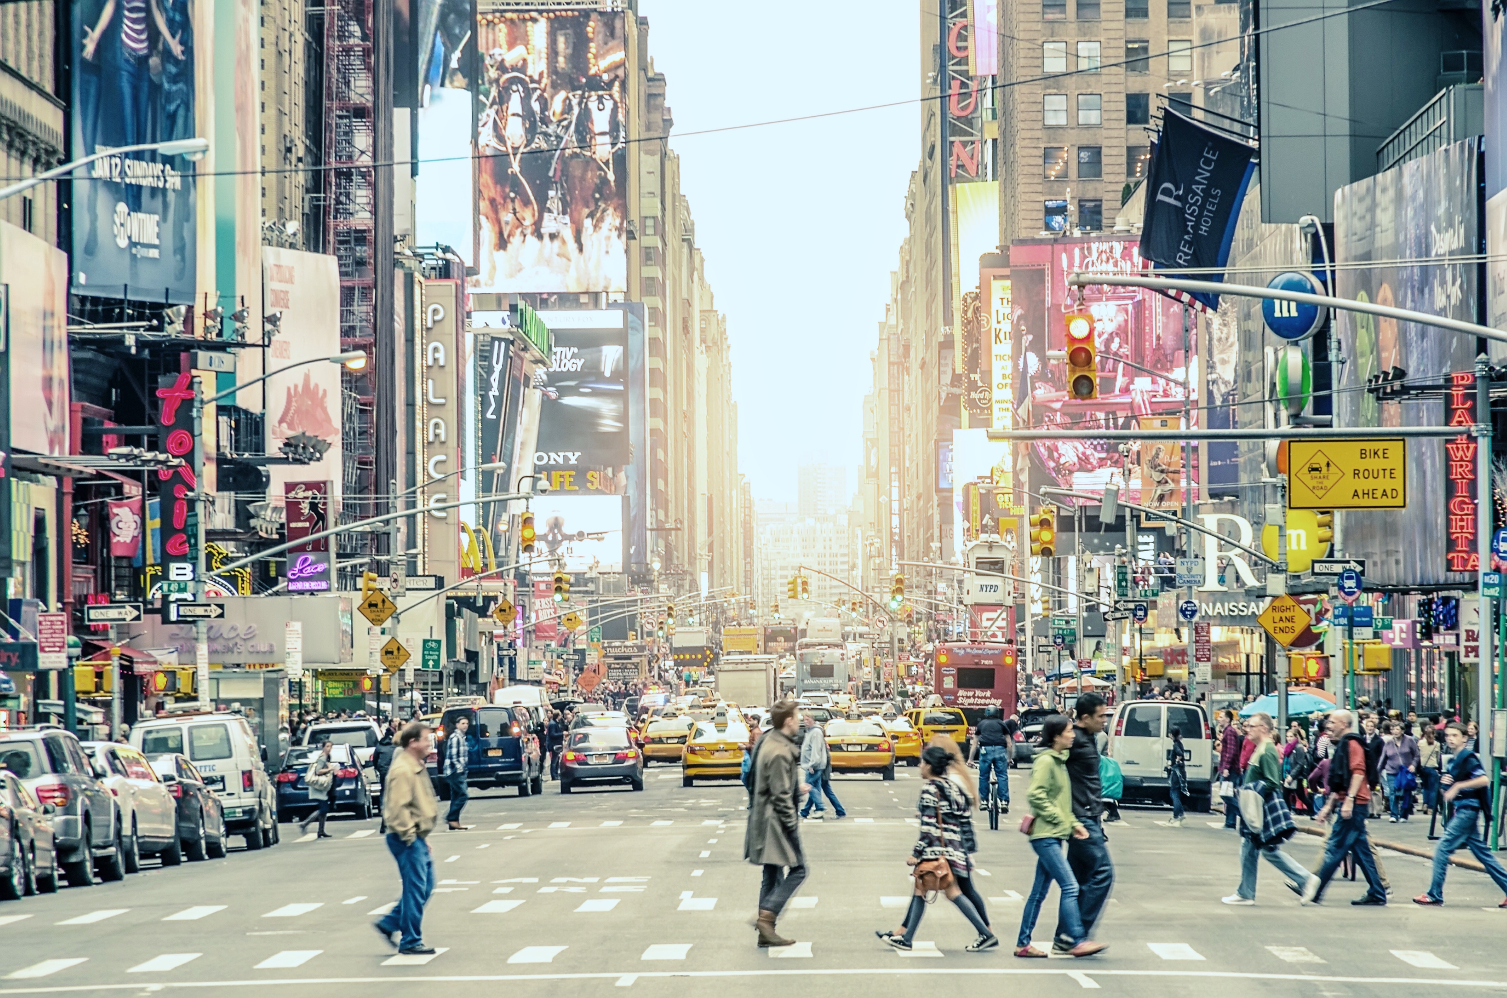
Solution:
[[[915,873],[915,894],[910,899],[910,911],[904,924],[894,932],[876,932],[880,939],[897,950],[910,950],[910,941],[921,926],[921,915],[925,914],[927,894],[940,891],[952,902],[963,917],[978,930],[978,938],[964,948],[969,953],[992,950],[999,945],[999,939],[989,930],[978,909],[963,894],[957,877],[967,877],[972,873],[972,861],[963,850],[961,819],[971,814],[971,802],[946,778],[948,763],[952,757],[946,749],[928,745],[921,754],[921,801],[916,811],[921,817],[921,837],[906,862]]]

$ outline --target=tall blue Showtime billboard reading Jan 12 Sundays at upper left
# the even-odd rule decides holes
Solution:
[[[74,0],[69,158],[197,134],[191,6]],[[74,181],[72,291],[193,303],[194,202],[184,157],[95,160]]]

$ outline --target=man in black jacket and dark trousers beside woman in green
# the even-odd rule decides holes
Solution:
[[[1109,858],[1105,840],[1103,814],[1099,784],[1097,737],[1109,721],[1109,707],[1099,693],[1084,693],[1073,707],[1073,746],[1067,749],[1067,776],[1073,782],[1073,817],[1085,829],[1087,838],[1067,840],[1067,865],[1078,880],[1078,912],[1084,920],[1085,938],[1091,938],[1094,923],[1109,902],[1109,889],[1115,885],[1115,864]],[[1058,923],[1052,939],[1055,953],[1067,953],[1076,945],[1065,926]]]

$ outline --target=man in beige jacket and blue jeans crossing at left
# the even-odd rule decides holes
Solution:
[[[423,944],[423,906],[434,891],[434,861],[429,856],[429,832],[440,816],[434,787],[425,760],[433,742],[428,727],[410,721],[398,736],[398,754],[387,769],[387,784],[381,794],[381,817],[387,825],[387,850],[398,861],[402,877],[402,900],[377,923],[377,932],[393,945],[393,933],[402,933],[398,953],[431,954]]]

